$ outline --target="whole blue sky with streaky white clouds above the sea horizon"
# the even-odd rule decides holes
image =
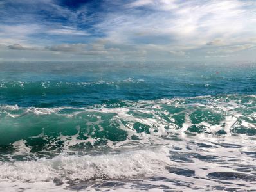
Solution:
[[[256,61],[255,0],[0,0],[0,61]]]

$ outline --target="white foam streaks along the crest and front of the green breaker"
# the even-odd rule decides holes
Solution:
[[[30,115],[30,117],[35,118],[35,120],[40,120],[41,117],[44,118],[44,115],[50,115],[48,119],[52,118],[52,120],[55,120],[56,116],[60,116],[61,120],[65,120],[65,118],[73,119],[73,122],[76,123],[74,123],[71,129],[77,126],[80,127],[83,129],[82,134],[84,134],[87,139],[78,139],[80,129],[71,136],[64,136],[60,133],[60,137],[56,141],[63,141],[64,149],[68,149],[68,147],[80,143],[95,142],[98,138],[93,138],[91,135],[94,135],[95,132],[104,131],[105,127],[102,126],[102,123],[107,121],[110,125],[117,126],[118,129],[127,133],[127,140],[125,141],[114,142],[106,139],[107,144],[105,145],[116,148],[117,146],[125,145],[125,143],[127,143],[127,145],[134,143],[135,141],[131,141],[132,136],[137,136],[138,139],[140,139],[140,143],[158,143],[156,142],[157,140],[165,143],[164,138],[168,138],[170,135],[173,136],[174,134],[180,135],[184,139],[188,136],[188,129],[191,129],[190,127],[192,127],[192,125],[201,126],[205,129],[201,133],[194,131],[193,134],[197,134],[197,137],[203,136],[204,132],[216,134],[218,131],[224,131],[224,134],[228,137],[235,132],[236,127],[242,127],[244,133],[246,133],[246,129],[255,129],[255,112],[253,112],[253,106],[247,107],[244,106],[244,104],[238,104],[232,100],[232,97],[232,95],[226,95],[223,97],[206,96],[192,97],[189,99],[176,98],[127,102],[127,105],[115,108],[109,108],[107,106],[101,106],[99,108],[93,108],[93,106],[89,108],[64,106],[58,108],[21,108],[17,105],[2,105],[0,106],[0,112],[1,116],[6,115],[11,118],[22,118],[23,116]],[[250,98],[250,95],[246,97]],[[193,102],[190,102],[190,100],[193,100]],[[169,107],[171,107],[174,112],[169,111]],[[174,108],[179,110],[176,112],[173,110]],[[250,110],[251,113],[244,114],[243,111],[246,110]],[[196,121],[196,123],[194,123],[192,118],[196,111],[199,111],[201,115],[194,116],[194,122]],[[33,116],[33,114],[35,116]],[[104,115],[109,114],[111,115],[105,118]],[[215,115],[219,117],[214,118],[213,116]],[[177,122],[176,116],[181,116],[182,119]],[[91,122],[89,118],[93,118],[93,121]],[[70,122],[70,120],[68,120],[68,122]],[[147,127],[150,133],[138,131],[138,129],[140,129],[138,124]],[[87,131],[86,127],[89,127]],[[97,130],[95,127],[97,127]],[[42,129],[43,128],[47,129],[47,127],[42,127]],[[91,132],[89,132],[89,129]],[[55,141],[51,141],[51,143],[54,145]],[[94,143],[91,144],[94,145]]]

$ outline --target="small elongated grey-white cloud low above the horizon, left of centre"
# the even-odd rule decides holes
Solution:
[[[51,51],[82,51],[83,47],[87,47],[87,44],[59,44],[45,48]]]

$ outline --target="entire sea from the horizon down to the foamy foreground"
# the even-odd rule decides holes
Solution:
[[[256,191],[256,63],[0,68],[0,191]]]

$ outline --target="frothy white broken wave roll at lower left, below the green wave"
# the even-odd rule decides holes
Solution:
[[[68,156],[62,152],[53,159],[1,163],[0,181],[50,182],[56,178],[66,181],[154,175],[165,172],[165,166],[170,166],[170,158],[167,156],[168,150],[165,147],[98,156]]]

